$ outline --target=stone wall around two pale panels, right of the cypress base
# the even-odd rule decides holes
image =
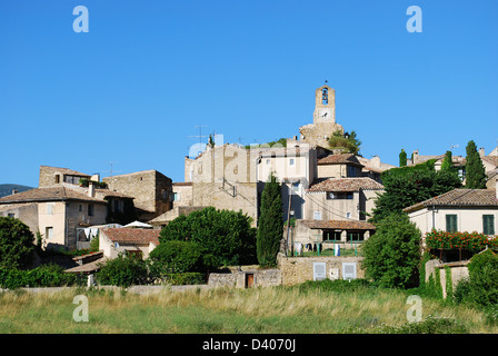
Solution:
[[[281,271],[282,285],[296,285],[313,280],[313,263],[326,264],[326,276],[329,279],[342,278],[342,263],[356,263],[357,278],[365,278],[361,267],[363,257],[285,257],[278,256],[278,266]]]

